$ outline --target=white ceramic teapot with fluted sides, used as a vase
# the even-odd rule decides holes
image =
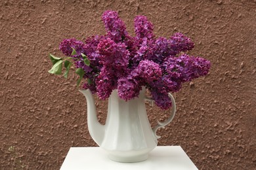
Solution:
[[[156,130],[169,124],[176,111],[175,100],[171,116],[166,122],[158,122],[153,129],[148,121],[145,107],[145,88],[140,91],[139,97],[125,101],[114,90],[108,99],[108,114],[106,124],[101,125],[96,117],[96,108],[90,90],[80,90],[87,99],[87,124],[89,133],[94,141],[104,148],[109,158],[120,162],[143,161],[148,153],[158,144]],[[153,102],[151,99],[146,99]]]

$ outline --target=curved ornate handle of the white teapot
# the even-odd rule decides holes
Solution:
[[[175,116],[175,112],[176,112],[176,103],[175,103],[175,99],[173,98],[173,95],[171,95],[171,93],[168,93],[168,96],[171,99],[171,103],[172,103],[172,107],[171,107],[171,115],[169,116],[169,118],[167,120],[165,120],[165,122],[159,122],[158,120],[158,124],[152,129],[154,135],[156,136],[156,139],[160,139],[160,136],[156,135],[156,131],[161,128],[161,127],[165,127],[167,124],[169,124],[174,116]],[[146,101],[150,102],[150,105],[154,105],[154,100],[146,98]]]

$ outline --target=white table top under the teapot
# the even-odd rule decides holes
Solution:
[[[108,154],[99,147],[72,147],[60,170],[121,169],[121,170],[170,170],[198,169],[181,146],[157,146],[148,160],[137,163],[119,163],[108,159]]]

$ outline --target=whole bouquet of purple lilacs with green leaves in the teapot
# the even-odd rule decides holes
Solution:
[[[60,50],[67,58],[50,54],[53,68],[49,73],[61,74],[62,63],[68,76],[72,62],[80,78],[85,78],[84,89],[90,89],[100,99],[107,99],[116,90],[121,99],[138,97],[142,86],[152,94],[161,109],[171,107],[169,92],[178,92],[182,82],[207,75],[210,62],[206,59],[188,56],[194,47],[188,37],[175,33],[169,39],[157,38],[153,25],[146,16],[136,16],[135,37],[127,33],[124,22],[117,12],[106,10],[102,15],[106,35],[94,35],[85,42],[64,39]]]

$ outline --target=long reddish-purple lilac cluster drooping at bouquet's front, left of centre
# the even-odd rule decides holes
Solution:
[[[129,51],[124,43],[116,43],[110,38],[102,39],[98,43],[100,63],[103,65],[96,82],[97,94],[106,99],[112,90],[117,88],[118,78],[127,75]]]

